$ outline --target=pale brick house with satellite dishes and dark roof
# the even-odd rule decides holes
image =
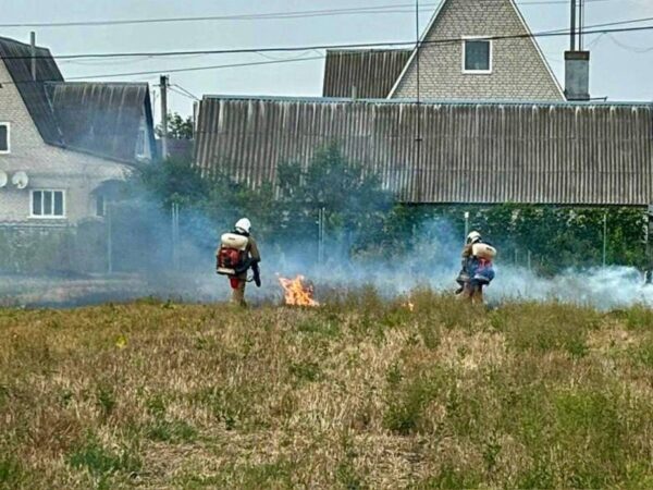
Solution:
[[[0,38],[0,248],[102,224],[112,183],[156,158],[147,84],[69,83],[48,49]]]

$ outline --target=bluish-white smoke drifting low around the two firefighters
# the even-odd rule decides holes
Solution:
[[[143,195],[146,195],[145,193]],[[139,197],[131,208],[114,212],[112,246],[114,272],[110,275],[12,278],[0,287],[2,305],[79,306],[103,302],[131,301],[141,297],[184,302],[212,303],[229,299],[229,281],[214,272],[214,248],[230,223],[215,229],[199,210],[182,212],[182,229],[193,229],[193,236],[182,233],[176,244],[178,264],[171,257],[172,220],[155,198]],[[134,211],[132,212],[131,209]],[[124,220],[120,221],[119,220]],[[254,233],[256,235],[254,223]],[[356,291],[374,287],[385,297],[409,293],[418,286],[453,294],[460,269],[464,236],[444,219],[406,230],[409,246],[387,250],[382,246],[349,257],[343,236],[328,236],[322,264],[317,262],[316,236],[292,243],[259,241],[262,254],[263,285],[247,287],[251,303],[278,303],[282,291],[278,275],[309,278],[318,298],[332,291]],[[198,236],[201,240],[198,241]],[[490,237],[492,238],[492,237]],[[121,264],[123,265],[121,269]],[[496,279],[486,287],[488,302],[501,305],[507,301],[557,301],[590,305],[600,309],[633,304],[653,306],[653,287],[644,285],[642,274],[633,268],[608,267],[568,270],[543,278],[502,257],[495,261]]]

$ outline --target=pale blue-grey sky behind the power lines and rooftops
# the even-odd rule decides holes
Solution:
[[[479,0],[483,1],[483,0]],[[426,26],[439,0],[420,0]],[[406,5],[414,0],[0,0],[0,24],[52,23],[263,14],[367,7]],[[533,33],[568,28],[569,4],[564,0],[517,0]],[[141,25],[1,27],[0,36],[24,41],[36,30],[37,44],[53,54],[151,52],[261,47],[310,47],[343,44],[402,42],[415,39],[415,14],[405,7],[394,12],[275,20],[221,20]],[[397,12],[397,10],[402,10]],[[586,25],[653,17],[653,0],[587,0]],[[653,25],[653,19],[638,25]],[[538,39],[558,81],[564,81],[563,53],[568,37]],[[653,30],[588,35],[591,49],[590,91],[608,100],[653,101]],[[202,95],[320,96],[323,51],[195,54],[174,58],[60,60],[66,79],[149,82],[158,108],[158,75],[97,75],[268,62],[310,58],[279,64],[170,73],[172,111],[190,114],[193,98]],[[317,59],[316,59],[317,58]],[[182,88],[184,90],[182,90]]]

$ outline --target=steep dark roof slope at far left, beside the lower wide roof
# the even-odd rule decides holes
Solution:
[[[38,132],[46,143],[63,145],[48,101],[45,82],[63,82],[57,63],[46,48],[36,48],[36,82],[32,78],[32,48],[29,45],[0,37],[0,58],[3,59],[12,82],[27,106]]]

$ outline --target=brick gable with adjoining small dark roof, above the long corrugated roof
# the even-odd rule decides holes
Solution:
[[[329,50],[324,97],[562,101],[514,0],[443,0],[414,49]],[[419,64],[419,70],[418,70]]]

